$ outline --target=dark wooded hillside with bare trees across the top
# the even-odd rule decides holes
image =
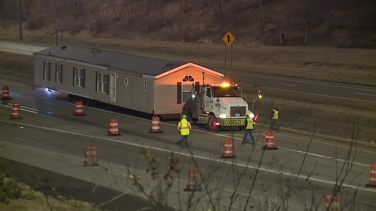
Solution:
[[[55,34],[219,43],[376,47],[375,0],[22,0],[23,29]],[[0,0],[0,26],[17,30],[18,0]]]

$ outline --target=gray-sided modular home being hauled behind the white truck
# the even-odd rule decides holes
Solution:
[[[63,45],[36,53],[34,85],[68,98],[117,105],[154,115],[179,114],[192,84],[221,83],[223,74],[192,62],[174,62],[96,47]]]

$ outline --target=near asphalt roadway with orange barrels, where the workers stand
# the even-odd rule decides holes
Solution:
[[[258,146],[246,145],[241,147],[239,144],[243,134],[240,131],[209,133],[205,129],[195,126],[190,136],[193,151],[181,150],[175,144],[180,138],[175,126],[177,122],[163,122],[161,130],[164,133],[149,134],[150,120],[148,119],[97,107],[85,107],[86,116],[76,117],[73,116],[74,104],[65,101],[66,95],[64,93],[47,92],[44,89],[32,90],[28,86],[17,87],[19,89],[12,89],[11,91],[13,100],[3,102],[0,106],[1,134],[3,135],[1,140],[5,142],[77,156],[84,154],[86,146],[95,145],[100,159],[136,167],[141,165],[140,169],[146,167],[145,163],[142,164],[142,162],[137,161],[141,146],[151,148],[159,158],[166,158],[170,150],[180,153],[179,155],[183,157],[191,157],[190,152],[193,152],[193,157],[197,160],[200,169],[203,168],[204,175],[213,172],[213,168],[217,164],[222,165],[219,170],[216,170],[218,173],[213,175],[215,179],[211,179],[211,181],[220,181],[221,184],[225,184],[225,188],[228,190],[232,190],[231,188],[236,184],[234,182],[236,180],[233,180],[234,178],[228,178],[228,180],[219,178],[232,167],[232,160],[226,160],[227,162],[223,163],[223,160],[219,158],[223,150],[223,140],[230,138],[234,141],[234,152],[237,156],[235,166],[238,169],[247,169],[246,175],[252,175],[252,169],[258,166],[264,152],[261,150],[264,136],[262,130],[256,129],[255,131]],[[11,104],[15,102],[21,105],[21,115],[24,118],[22,120],[8,119]],[[118,119],[119,131],[122,136],[106,136],[109,119],[112,118]],[[372,204],[374,203],[372,197],[375,196],[376,189],[364,187],[369,180],[370,165],[375,161],[376,152],[374,150],[351,149],[346,144],[314,138],[306,155],[305,152],[309,145],[308,137],[287,133],[277,133],[275,137],[279,149],[266,151],[260,163],[262,179],[267,180],[267,187],[269,187],[267,191],[277,188],[281,173],[286,177],[296,176],[302,167],[302,172],[299,174],[299,184],[304,185],[303,181],[312,172],[310,181],[315,187],[320,187],[320,191],[315,190],[315,194],[330,194],[330,190],[337,181],[336,178],[340,177],[344,179],[343,191],[355,190],[359,185],[359,191],[361,191],[359,194],[364,194],[364,197],[359,197],[358,202],[365,205],[374,205]],[[348,156],[349,158],[347,158]],[[249,157],[251,163],[247,167]],[[305,159],[305,162],[302,165],[303,159]],[[345,172],[341,172],[341,169],[349,167],[346,160],[353,160],[354,162],[351,169],[345,174]],[[188,172],[188,167],[192,161],[184,158],[182,162],[185,165],[182,172]],[[238,170],[238,172],[242,171]],[[249,176],[245,178],[249,178]],[[186,178],[183,178],[183,180],[186,180]],[[238,191],[241,193],[247,192],[246,187],[250,183],[249,180],[241,181],[241,188]],[[212,184],[213,187],[216,187],[216,185],[218,184]],[[259,186],[256,190],[264,191]],[[294,205],[299,204],[298,199],[292,199],[290,202]]]

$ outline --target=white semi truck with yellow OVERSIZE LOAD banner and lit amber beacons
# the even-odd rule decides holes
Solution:
[[[192,96],[183,105],[181,115],[185,114],[192,125],[205,124],[209,131],[218,131],[220,127],[239,127],[243,129],[246,113],[250,112],[248,103],[241,97],[238,84],[223,82],[220,84],[194,86]],[[262,95],[259,92],[259,97]]]

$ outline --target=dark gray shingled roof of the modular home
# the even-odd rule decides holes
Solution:
[[[65,48],[62,49],[64,46]],[[95,47],[82,47],[76,45],[63,45],[62,47],[56,46],[47,48],[45,50],[35,52],[33,55],[70,59],[77,62],[113,68],[120,71],[153,76],[159,75],[187,63],[155,59],[145,56],[136,56],[116,51],[101,50],[100,48]]]

